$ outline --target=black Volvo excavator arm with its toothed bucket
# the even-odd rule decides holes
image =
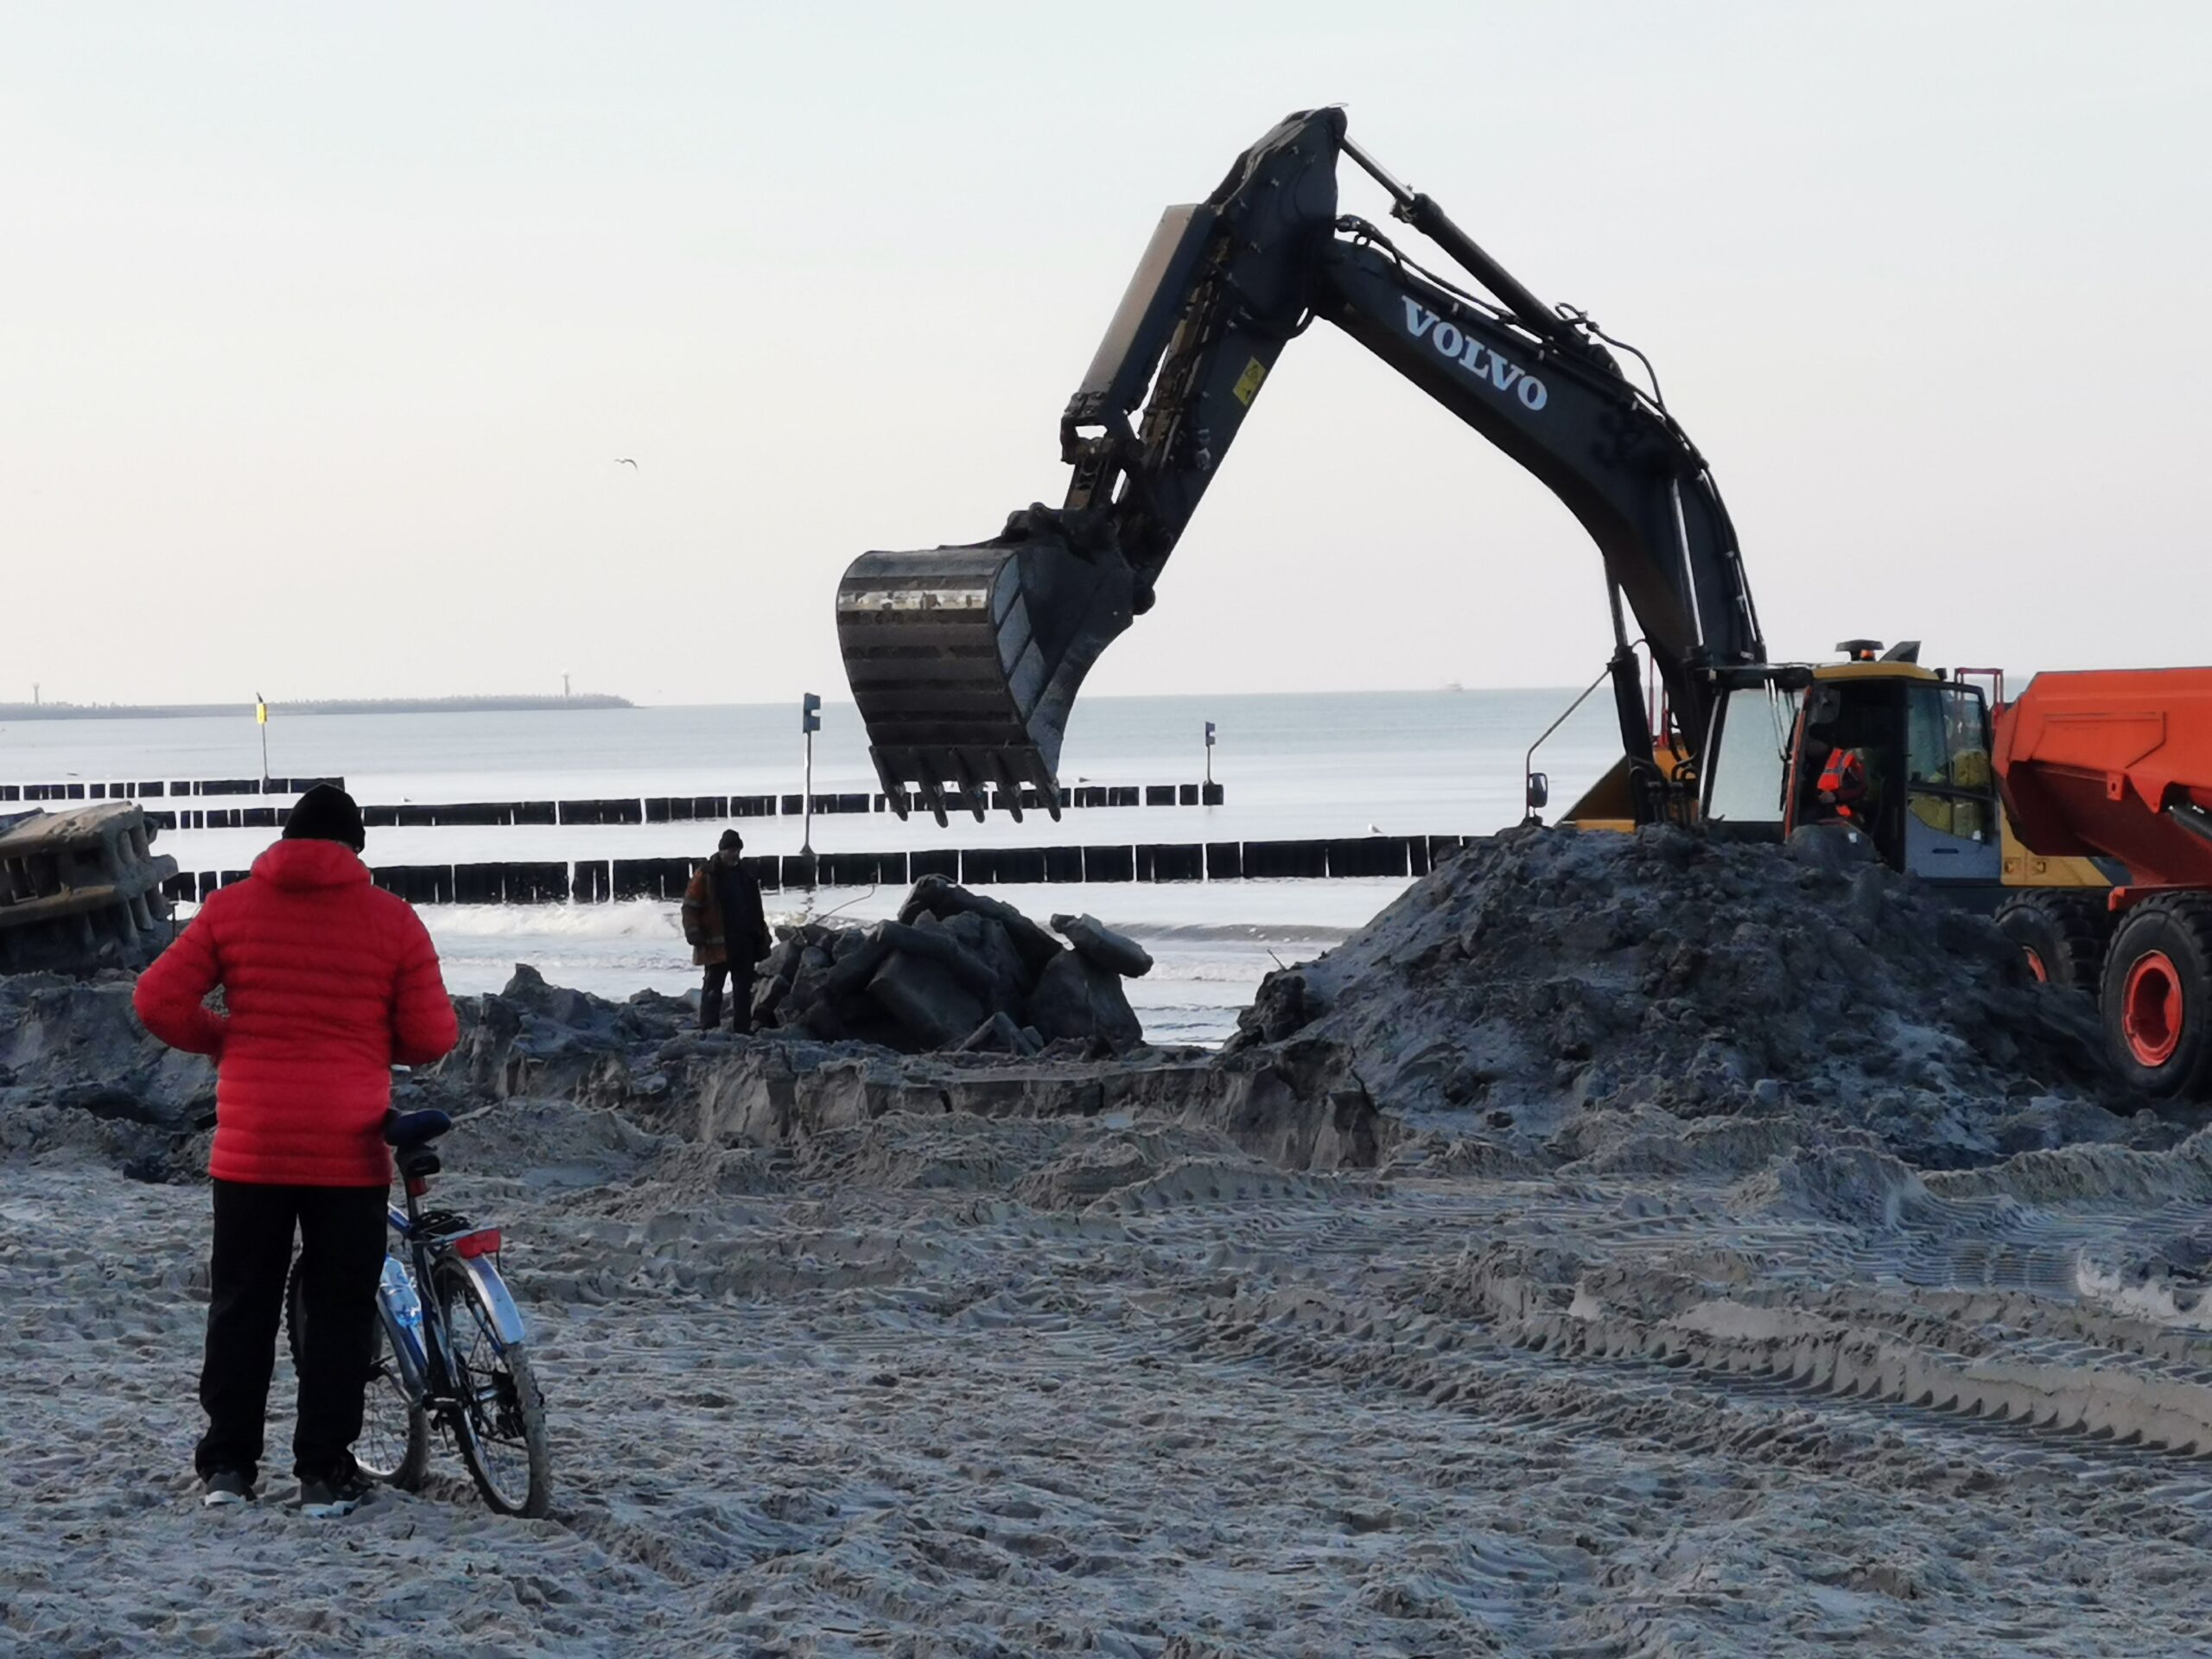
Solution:
[[[1349,155],[1491,299],[1338,217]],[[1579,319],[1546,310],[1442,210],[1345,137],[1292,115],[1203,204],[1170,208],[1062,416],[1073,476],[991,542],[867,553],[838,584],[838,644],[891,803],[982,816],[987,785],[1057,816],[1060,741],[1099,653],[1152,604],[1161,568],[1283,345],[1329,321],[1540,478],[1604,557],[1621,748],[1652,790],[1652,732],[1624,602],[1692,761],[1714,670],[1765,646],[1728,509],[1657,396]],[[1646,792],[1650,799],[1652,790]]]

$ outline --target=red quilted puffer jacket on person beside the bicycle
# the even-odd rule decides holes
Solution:
[[[228,1015],[201,1006],[217,984]],[[392,1066],[427,1066],[458,1037],[422,918],[336,841],[261,854],[133,1002],[161,1042],[217,1057],[208,1175],[254,1186],[392,1181]]]

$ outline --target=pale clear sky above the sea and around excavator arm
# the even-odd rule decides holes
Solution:
[[[0,27],[0,701],[843,697],[845,564],[1057,500],[1161,206],[1316,104],[1655,361],[1772,655],[2212,655],[2212,7]],[[1345,168],[1345,210],[1387,201]],[[1091,690],[1571,686],[1606,648],[1566,509],[1316,325]]]

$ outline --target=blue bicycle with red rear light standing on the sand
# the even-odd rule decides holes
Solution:
[[[392,1113],[385,1141],[407,1197],[389,1206],[392,1254],[376,1287],[376,1354],[354,1462],[369,1480],[420,1491],[429,1425],[460,1449],[469,1478],[502,1515],[542,1517],[553,1504],[544,1394],[531,1367],[522,1312],[500,1279],[500,1230],[456,1210],[425,1210],[431,1148],[453,1119],[440,1110]],[[420,1287],[429,1285],[425,1298]],[[285,1327],[299,1363],[299,1270],[285,1290]]]

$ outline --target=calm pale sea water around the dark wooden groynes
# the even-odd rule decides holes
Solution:
[[[1575,690],[1431,690],[1243,697],[1086,697],[1062,750],[1064,785],[1221,783],[1214,807],[1088,807],[1060,823],[993,812],[940,827],[927,814],[818,814],[814,852],[920,847],[1287,841],[1365,834],[1489,834],[1524,814],[1522,765]],[[1206,745],[1206,728],[1214,745]],[[270,776],[343,776],[361,803],[546,801],[664,794],[801,794],[799,701],[703,708],[544,708],[524,712],[296,714],[265,728]],[[1564,805],[1619,754],[1599,692],[1535,757]],[[0,723],[0,783],[261,776],[250,714],[31,719]],[[812,792],[874,792],[856,710],[823,708]],[[212,805],[212,803],[210,803]],[[252,805],[223,801],[221,805]],[[281,801],[276,803],[281,805]],[[737,825],[750,854],[796,854],[796,816]],[[518,825],[372,830],[372,865],[661,858],[706,854],[721,825]],[[243,869],[270,830],[166,832],[155,852],[181,869]],[[1135,936],[1155,969],[1130,1002],[1157,1042],[1214,1044],[1234,1031],[1261,978],[1345,940],[1405,880],[1210,880],[1009,885],[1000,898],[1040,920],[1088,911]],[[874,920],[902,889],[772,894],[772,920]],[[181,916],[190,907],[179,909]],[[495,991],[518,962],[606,998],[697,984],[677,907],[615,905],[422,909],[458,993]]]

